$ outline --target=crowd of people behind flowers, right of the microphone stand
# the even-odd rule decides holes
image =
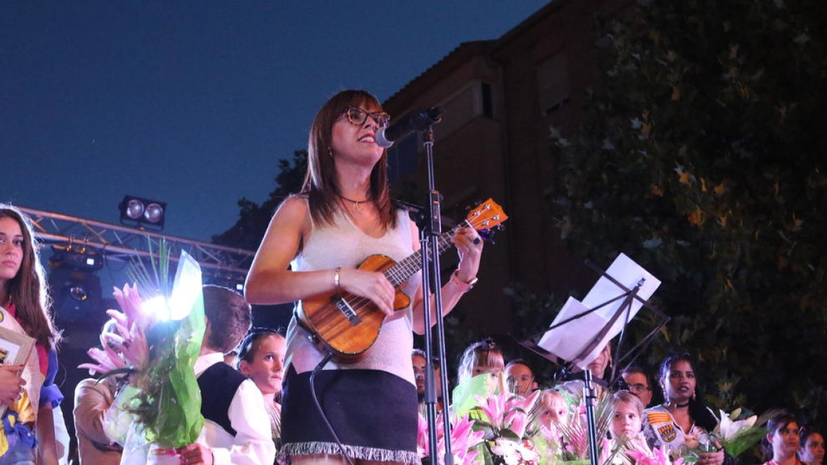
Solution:
[[[422,352],[412,354],[414,366],[421,365]],[[689,353],[672,353],[661,363],[655,379],[662,392],[661,404],[653,405],[654,392],[650,377],[640,367],[626,367],[620,379],[609,383],[607,367],[611,361],[610,346],[587,369],[595,380],[598,399],[606,397],[610,411],[609,429],[604,440],[609,444],[624,443],[626,448],[652,450],[660,448],[673,458],[693,452],[699,464],[734,463],[725,448],[710,433],[719,419],[706,407],[697,391],[695,363]],[[549,386],[540,386],[532,368],[522,359],[504,362],[501,348],[486,339],[471,344],[457,366],[457,382],[469,381],[471,376],[495,378],[503,373],[509,391],[528,396],[541,392],[540,419],[545,426],[560,426],[571,422],[585,422],[579,408],[582,404],[566,400],[566,393],[584,395],[581,373],[570,373],[566,379]],[[418,385],[420,399],[423,389]],[[794,415],[781,410],[769,419],[763,453],[769,460],[764,465],[820,464],[825,456],[824,436],[819,429],[801,428]],[[615,461],[614,463],[624,463]]]

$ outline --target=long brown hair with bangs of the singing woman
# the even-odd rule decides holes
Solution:
[[[379,100],[364,90],[343,90],[332,96],[313,118],[308,140],[308,170],[304,175],[302,194],[308,196],[310,215],[315,223],[333,223],[333,213],[339,208],[339,186],[336,166],[331,151],[332,127],[348,107],[381,108]],[[385,229],[396,226],[396,215],[390,203],[388,187],[388,152],[370,172],[370,200],[379,210],[380,223]]]

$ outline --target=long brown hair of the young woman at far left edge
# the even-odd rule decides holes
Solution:
[[[55,348],[60,333],[50,313],[51,300],[46,289],[45,273],[37,253],[37,243],[28,218],[9,204],[0,204],[0,218],[12,218],[23,232],[23,259],[20,271],[7,282],[7,293],[15,304],[17,321],[38,344]]]

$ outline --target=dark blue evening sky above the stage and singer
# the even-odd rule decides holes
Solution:
[[[543,1],[0,2],[0,201],[208,241],[261,202],[332,93],[390,97]]]

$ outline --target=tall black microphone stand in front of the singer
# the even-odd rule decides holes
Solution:
[[[425,414],[428,419],[428,446],[432,463],[439,463],[437,454],[437,386],[434,381],[433,369],[433,333],[431,330],[431,283],[434,283],[436,290],[433,293],[433,306],[436,318],[436,343],[439,363],[442,367],[440,376],[442,378],[442,430],[444,431],[443,442],[445,443],[445,465],[453,465],[454,454],[451,448],[451,422],[450,407],[448,405],[447,393],[447,363],[445,356],[445,327],[442,322],[442,292],[440,283],[442,277],[439,271],[439,236],[442,233],[442,213],[440,211],[441,195],[434,187],[433,175],[433,125],[429,124],[422,131],[423,145],[425,146],[425,157],[428,161],[428,216],[420,217],[419,224],[419,246],[421,247],[422,259],[422,290],[423,290],[423,312],[425,325]]]

